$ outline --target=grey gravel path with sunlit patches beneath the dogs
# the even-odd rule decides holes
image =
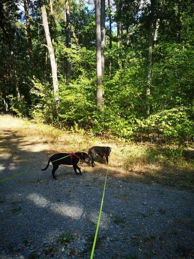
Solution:
[[[0,148],[0,179],[30,170],[0,183],[0,258],[89,259],[104,175],[81,164],[53,181],[47,146],[6,129]],[[109,175],[94,258],[194,258],[194,192]]]

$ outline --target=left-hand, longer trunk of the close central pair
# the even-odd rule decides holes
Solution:
[[[101,65],[101,32],[100,32],[100,0],[95,0],[96,13],[96,49],[97,49],[97,106],[103,105],[102,65]]]

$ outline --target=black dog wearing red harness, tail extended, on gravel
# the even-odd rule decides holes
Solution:
[[[80,160],[85,160],[86,163],[89,162],[89,157],[86,153],[84,152],[76,152],[76,153],[58,153],[55,155],[50,156],[49,162],[45,169],[41,169],[42,171],[47,170],[49,167],[49,163],[51,162],[53,165],[52,169],[52,177],[54,180],[57,180],[55,177],[55,172],[58,169],[59,165],[73,165],[74,172],[77,173],[77,169],[79,170],[80,174],[81,173],[81,168],[77,165]]]

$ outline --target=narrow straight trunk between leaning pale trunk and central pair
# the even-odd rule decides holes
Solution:
[[[66,47],[71,47],[71,28],[70,28],[70,9],[69,9],[69,0],[65,0],[65,9],[66,9]],[[66,57],[66,85],[69,85],[71,64]]]

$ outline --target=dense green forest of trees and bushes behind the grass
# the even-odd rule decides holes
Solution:
[[[0,2],[0,112],[94,135],[172,139],[182,146],[194,136],[193,74],[193,0]]]

